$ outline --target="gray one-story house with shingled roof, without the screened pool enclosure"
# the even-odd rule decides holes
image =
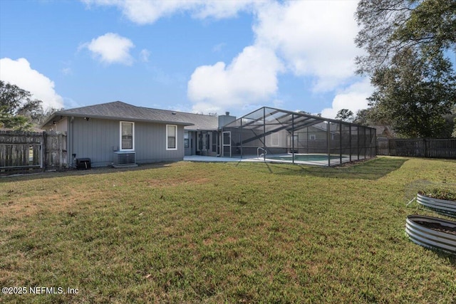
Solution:
[[[68,164],[90,159],[92,167],[178,161],[185,154],[217,154],[219,120],[116,101],[54,112],[43,129],[67,133]]]

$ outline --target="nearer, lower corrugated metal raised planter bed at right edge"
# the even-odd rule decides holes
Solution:
[[[456,222],[432,216],[407,216],[405,233],[414,243],[456,254]]]

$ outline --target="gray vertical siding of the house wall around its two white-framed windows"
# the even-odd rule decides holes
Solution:
[[[118,120],[85,120],[75,117],[70,123],[73,151],[76,158],[90,158],[93,167],[113,163],[114,152],[120,145]],[[135,152],[138,164],[182,160],[184,157],[184,127],[177,126],[177,150],[166,150],[166,125],[135,122]]]

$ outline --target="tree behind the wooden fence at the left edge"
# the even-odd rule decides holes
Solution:
[[[30,130],[43,117],[41,103],[27,90],[0,80],[0,127]]]

